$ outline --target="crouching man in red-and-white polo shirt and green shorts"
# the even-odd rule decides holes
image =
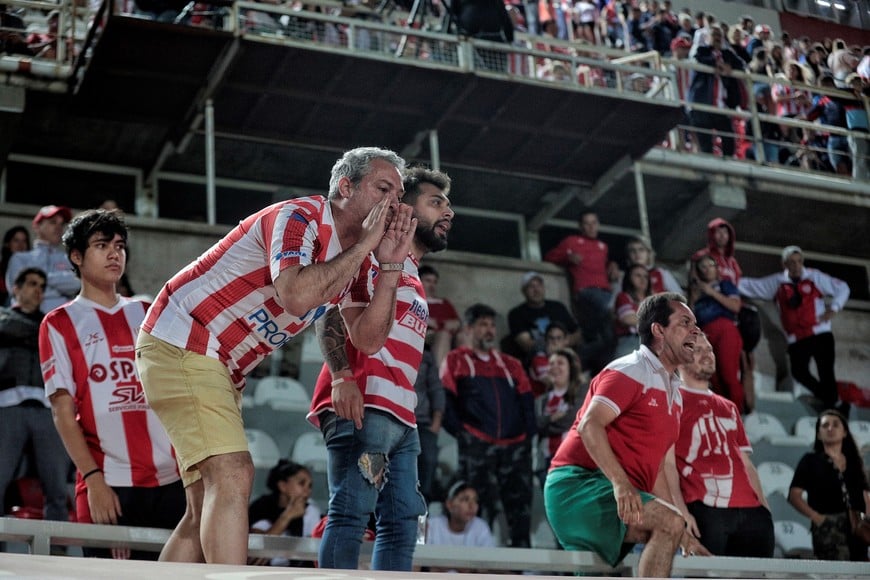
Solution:
[[[615,566],[645,543],[639,575],[668,577],[674,552],[708,554],[658,475],[682,411],[675,371],[693,361],[695,315],[679,294],[650,296],[638,313],[641,347],[598,374],[551,463],[547,519],[566,550],[592,550]]]

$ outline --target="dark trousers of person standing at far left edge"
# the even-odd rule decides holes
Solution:
[[[54,426],[51,409],[42,404],[0,407],[0,494],[12,483],[28,441],[33,446],[36,472],[45,496],[43,517],[66,521],[70,459]]]

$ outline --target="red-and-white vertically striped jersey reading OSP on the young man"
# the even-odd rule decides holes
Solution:
[[[148,304],[119,298],[106,308],[79,296],[46,315],[39,327],[45,392],[65,390],[73,397],[78,423],[108,485],[166,485],[180,479],[178,466],[169,437],[145,400],[135,360]]]

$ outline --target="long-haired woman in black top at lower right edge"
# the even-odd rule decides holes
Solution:
[[[788,501],[812,522],[816,558],[867,561],[867,545],[852,534],[849,509],[870,512],[870,486],[849,422],[839,411],[819,415],[813,452],[798,463]]]

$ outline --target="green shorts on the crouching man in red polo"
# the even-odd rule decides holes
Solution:
[[[641,491],[643,503],[655,496]],[[613,485],[599,469],[576,465],[547,474],[544,507],[553,533],[566,550],[590,550],[616,566],[634,544],[626,544],[626,526],[619,519]]]

